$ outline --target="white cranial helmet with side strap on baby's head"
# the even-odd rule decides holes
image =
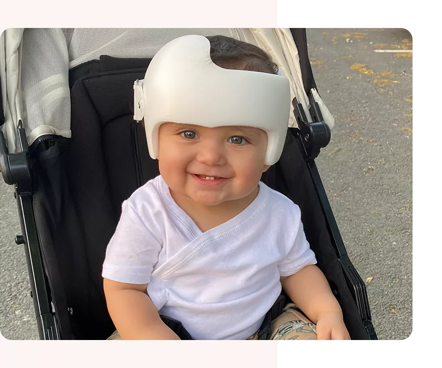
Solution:
[[[134,119],[144,118],[154,159],[158,130],[166,122],[260,128],[267,133],[266,164],[273,165],[281,156],[291,105],[288,79],[219,67],[210,58],[206,37],[183,36],[167,43],[134,90]]]

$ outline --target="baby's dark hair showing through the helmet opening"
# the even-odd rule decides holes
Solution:
[[[257,46],[226,36],[209,36],[207,39],[210,41],[210,57],[221,68],[278,74],[278,66]]]

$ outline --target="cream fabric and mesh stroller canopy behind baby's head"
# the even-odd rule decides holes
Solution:
[[[289,79],[291,98],[304,106],[311,122],[303,60],[290,28],[13,28],[0,40],[1,130],[9,153],[16,152],[20,120],[29,145],[46,134],[71,137],[69,73],[77,66],[101,55],[153,57],[167,42],[187,34],[225,35],[261,47]],[[317,90],[311,88],[311,94],[332,129],[334,119]],[[297,126],[293,111],[289,126]]]

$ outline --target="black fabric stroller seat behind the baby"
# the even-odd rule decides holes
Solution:
[[[47,143],[52,147],[35,162],[40,175],[35,177],[34,205],[46,215],[41,222],[47,224],[41,235],[44,253],[57,259],[48,274],[49,284],[58,285],[51,289],[63,339],[106,339],[114,331],[102,288],[106,246],[121,203],[159,174],[144,129],[133,119],[133,82],[143,78],[148,62],[138,59],[132,68],[131,59],[103,56],[94,65],[74,69],[72,138],[68,145],[62,139]],[[145,67],[138,68],[140,63]],[[294,131],[288,130],[281,158],[262,180],[300,206],[306,237],[342,306],[352,339],[369,340]],[[46,258],[52,267],[51,257]]]

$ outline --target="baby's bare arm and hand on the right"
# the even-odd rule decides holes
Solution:
[[[281,284],[290,299],[317,325],[318,340],[350,340],[341,307],[316,265],[281,277]]]

